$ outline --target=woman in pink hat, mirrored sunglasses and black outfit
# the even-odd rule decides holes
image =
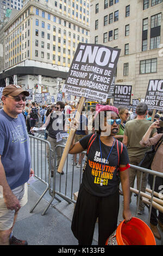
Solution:
[[[119,184],[121,179],[124,197],[123,218],[131,220],[129,209],[129,157],[127,148],[114,136],[121,119],[118,109],[109,105],[96,105],[95,129],[70,147],[70,154],[87,149],[76,208],[71,229],[79,245],[91,245],[98,217],[98,245],[116,230],[119,211]],[[74,125],[76,127],[76,125]]]

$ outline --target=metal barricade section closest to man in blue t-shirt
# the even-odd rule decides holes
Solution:
[[[34,169],[35,178],[39,179],[46,185],[45,191],[41,194],[40,198],[37,200],[30,212],[33,212],[40,200],[49,191],[51,194],[51,161],[47,161],[47,147],[49,149],[49,159],[53,157],[53,150],[51,144],[45,139],[41,139],[32,135],[29,135],[29,144],[30,144],[30,155],[31,155],[31,168]],[[60,200],[56,197],[59,202]],[[47,209],[45,209],[42,215],[45,214]]]

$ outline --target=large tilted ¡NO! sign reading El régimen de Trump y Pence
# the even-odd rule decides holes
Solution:
[[[106,102],[120,51],[79,43],[62,92]]]

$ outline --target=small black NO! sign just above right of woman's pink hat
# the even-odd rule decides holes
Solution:
[[[131,86],[115,85],[114,90],[114,106],[115,107],[126,107],[130,106],[131,99]]]

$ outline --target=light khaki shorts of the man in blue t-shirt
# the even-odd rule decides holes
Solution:
[[[21,207],[27,203],[28,200],[28,187],[27,183],[18,186],[12,190],[15,196],[20,201]],[[14,222],[15,210],[7,209],[7,206],[4,203],[3,190],[0,186],[0,230],[8,230],[12,227]]]

